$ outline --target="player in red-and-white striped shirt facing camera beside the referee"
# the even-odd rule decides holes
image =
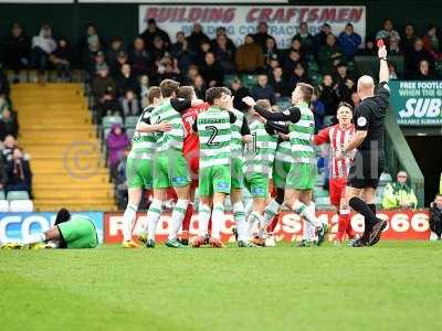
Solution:
[[[351,124],[352,108],[347,103],[340,103],[337,115],[338,124],[320,130],[314,137],[316,145],[325,142],[330,143],[330,163],[329,163],[329,192],[330,203],[336,207],[339,214],[338,233],[336,234],[336,243],[343,242],[344,235],[352,239],[355,232],[350,224],[350,209],[345,204],[344,193],[347,182],[348,171],[351,166],[352,153],[348,153],[343,159],[336,158],[336,152],[340,151],[355,134],[355,126]]]

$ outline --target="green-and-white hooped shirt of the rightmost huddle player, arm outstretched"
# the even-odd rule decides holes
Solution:
[[[301,111],[301,119],[288,125],[288,137],[292,147],[294,163],[315,163],[316,157],[313,148],[315,134],[315,119],[307,103],[299,103],[296,107]]]

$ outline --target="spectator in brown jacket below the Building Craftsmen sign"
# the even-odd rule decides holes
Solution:
[[[238,73],[255,74],[264,66],[264,54],[253,36],[248,34],[244,44],[238,47],[235,55],[235,65]]]

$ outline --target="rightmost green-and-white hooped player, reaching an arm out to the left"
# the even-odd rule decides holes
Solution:
[[[288,134],[293,164],[285,183],[284,204],[315,227],[318,236],[317,244],[320,245],[325,238],[327,225],[316,218],[315,210],[311,206],[313,205],[312,197],[316,178],[316,157],[313,148],[315,121],[308,107],[312,95],[312,85],[298,83],[292,93],[293,106],[283,113],[272,113],[256,106],[252,97],[245,97],[243,102],[267,119],[267,125],[282,134]],[[274,121],[286,121],[288,127]],[[271,204],[266,206],[265,213],[276,215],[280,209],[281,205],[272,200]],[[266,227],[267,224],[263,222],[262,226]]]

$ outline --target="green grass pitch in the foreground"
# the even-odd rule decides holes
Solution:
[[[442,330],[441,307],[442,242],[0,252],[8,331]]]

